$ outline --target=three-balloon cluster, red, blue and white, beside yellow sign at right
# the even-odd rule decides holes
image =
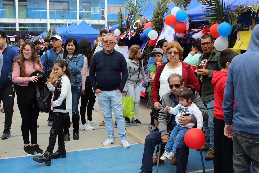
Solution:
[[[214,47],[218,51],[228,48],[228,35],[232,32],[232,27],[229,23],[215,23],[210,27],[210,35],[216,38]]]

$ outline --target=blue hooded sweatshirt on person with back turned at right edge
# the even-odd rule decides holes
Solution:
[[[259,134],[258,54],[259,25],[252,31],[247,51],[230,63],[222,104],[225,124],[233,123],[233,130],[252,134]]]

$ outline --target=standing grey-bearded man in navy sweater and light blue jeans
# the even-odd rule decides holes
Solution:
[[[104,37],[104,49],[96,52],[91,60],[89,76],[105,120],[108,138],[103,143],[103,146],[115,143],[112,106],[119,138],[121,139],[120,143],[124,148],[129,148],[129,143],[126,139],[121,95],[128,78],[128,69],[123,54],[114,50],[115,45],[115,36],[107,34]]]

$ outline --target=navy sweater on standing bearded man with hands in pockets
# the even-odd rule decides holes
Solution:
[[[103,50],[96,52],[91,60],[89,76],[94,91],[123,91],[128,78],[127,63],[123,54],[116,50],[110,54]]]

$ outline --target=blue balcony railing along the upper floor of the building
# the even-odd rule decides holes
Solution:
[[[96,9],[96,8],[95,8]],[[16,18],[15,10],[0,10],[0,18]],[[108,12],[108,20],[116,20],[118,12]],[[124,16],[124,12],[123,12]],[[47,19],[47,10],[18,10],[19,19]],[[49,11],[50,19],[77,19],[76,11]],[[104,11],[79,11],[79,19],[104,20]]]

